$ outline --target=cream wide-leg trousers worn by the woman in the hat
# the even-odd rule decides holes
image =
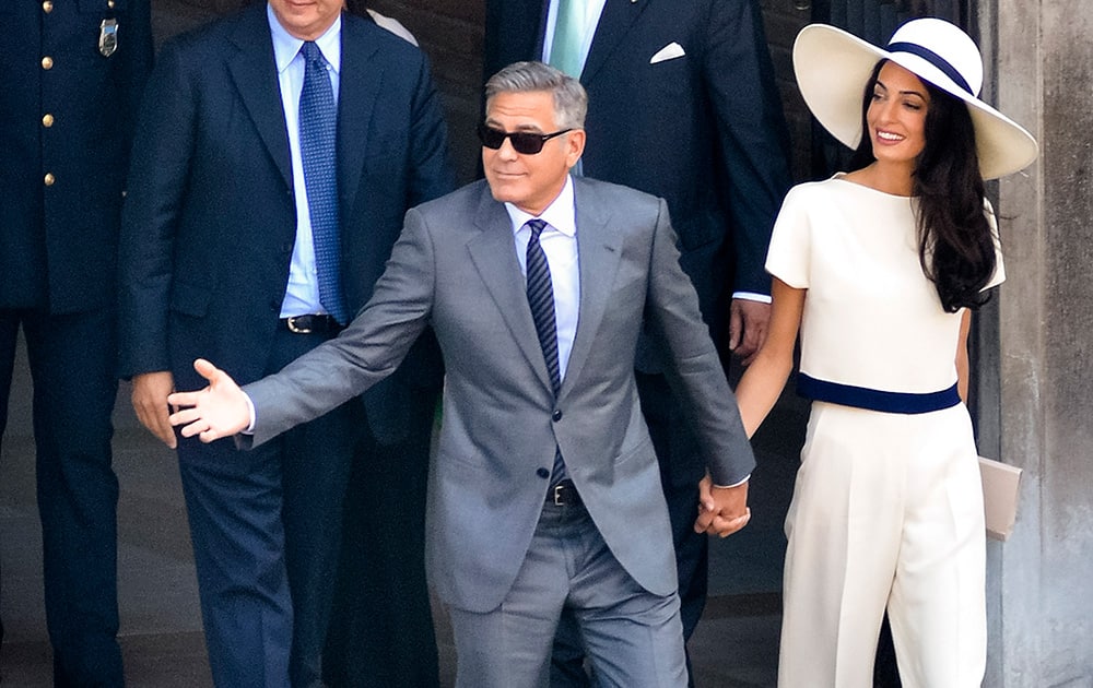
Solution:
[[[983,491],[963,404],[889,414],[815,402],[786,519],[780,688],[870,688],[885,607],[905,688],[986,664]]]

